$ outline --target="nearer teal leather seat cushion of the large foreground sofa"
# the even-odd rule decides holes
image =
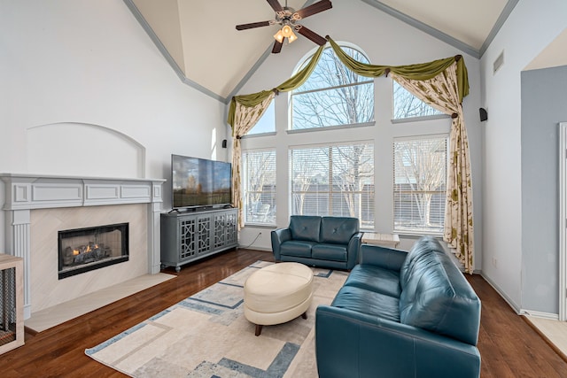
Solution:
[[[332,306],[400,322],[398,298],[354,286],[343,286],[338,290]]]

